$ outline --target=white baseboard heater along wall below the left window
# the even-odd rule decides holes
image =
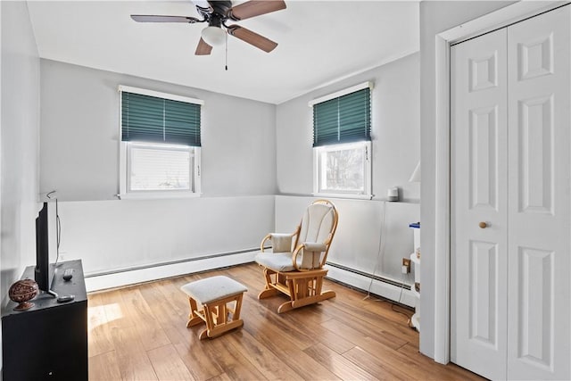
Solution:
[[[234,253],[195,261],[183,261],[166,265],[158,265],[145,269],[133,269],[112,274],[86,277],[87,292],[101,291],[108,288],[136,285],[166,277],[178,277],[194,272],[220,269],[253,261],[256,252]]]

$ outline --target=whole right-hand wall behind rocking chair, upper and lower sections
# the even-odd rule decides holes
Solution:
[[[277,197],[276,228],[292,229],[292,211],[297,211],[295,223],[299,223],[300,208],[311,201],[312,112],[308,102],[368,80],[375,83],[371,95],[375,197],[372,201],[332,200],[340,217],[328,260],[408,284],[414,278],[402,279],[401,259],[412,253],[409,224],[419,218],[419,184],[408,181],[420,158],[419,61],[418,53],[410,54],[277,106],[277,187],[284,196]],[[391,186],[401,187],[405,202],[385,203]],[[294,202],[294,198],[299,200]],[[383,232],[385,250],[379,253]]]

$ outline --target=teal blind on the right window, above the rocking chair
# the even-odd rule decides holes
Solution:
[[[313,146],[371,140],[371,91],[363,88],[313,105]]]

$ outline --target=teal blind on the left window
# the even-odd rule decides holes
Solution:
[[[121,140],[201,146],[200,104],[121,91]]]

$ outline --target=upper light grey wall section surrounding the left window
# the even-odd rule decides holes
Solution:
[[[275,105],[44,59],[42,192],[56,189],[60,201],[116,199],[119,85],[203,99],[204,196],[276,192]]]

